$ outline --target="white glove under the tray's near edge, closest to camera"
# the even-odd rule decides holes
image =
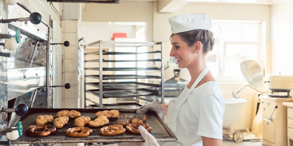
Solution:
[[[145,142],[124,142],[118,143],[118,146],[160,146],[156,138],[146,131],[146,128],[139,126],[138,130]]]

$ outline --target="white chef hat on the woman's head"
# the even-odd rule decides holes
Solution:
[[[172,34],[196,29],[209,30],[211,21],[206,14],[184,14],[169,18]]]

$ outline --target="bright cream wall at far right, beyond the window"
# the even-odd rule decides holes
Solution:
[[[272,8],[272,49],[268,59],[272,74],[293,75],[293,4],[274,4]]]

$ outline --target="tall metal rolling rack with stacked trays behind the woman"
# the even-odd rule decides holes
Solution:
[[[115,52],[117,47],[123,48],[124,51]],[[102,40],[84,45],[84,108],[137,109],[142,106],[139,104],[140,100],[151,102],[159,97],[161,97],[161,103],[164,103],[163,47],[163,42],[117,42]],[[98,51],[89,52],[90,48],[98,49]],[[133,51],[134,48],[135,51]],[[141,48],[145,48],[147,51],[144,52]],[[139,55],[143,54],[148,56],[146,57],[147,59],[139,57]],[[95,59],[87,60],[87,55],[97,56],[94,57]],[[105,55],[109,57],[103,59]],[[116,55],[125,57],[122,57],[124,59],[119,59],[119,57],[115,59]],[[135,59],[129,59],[129,55],[134,55]],[[147,65],[145,67],[139,66],[138,62],[140,61],[146,62]],[[90,62],[96,63],[95,67],[87,67],[87,63]],[[132,63],[129,64],[129,62]],[[115,67],[115,63],[124,63],[125,66]],[[95,71],[95,73],[86,73],[89,70]],[[145,75],[142,71],[158,71],[161,72],[161,75]],[[87,78],[95,79],[97,82],[88,82]],[[159,79],[160,82],[155,84],[148,80],[151,78]],[[95,89],[86,89],[86,86],[94,87]],[[96,96],[99,99],[99,103],[87,98],[87,93]],[[103,103],[105,98],[117,99],[126,97],[133,98],[133,101],[128,103]],[[94,105],[87,105],[87,102],[91,102]]]

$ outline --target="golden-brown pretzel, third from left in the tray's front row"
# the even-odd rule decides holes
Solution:
[[[113,136],[124,133],[126,130],[122,125],[109,125],[100,128],[100,134],[105,136]]]

